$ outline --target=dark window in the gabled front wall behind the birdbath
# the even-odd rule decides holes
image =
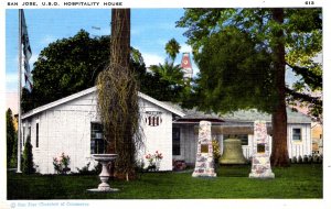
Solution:
[[[90,123],[90,154],[106,153],[107,142],[104,140],[103,125]]]

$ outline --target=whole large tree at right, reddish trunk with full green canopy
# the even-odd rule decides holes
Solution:
[[[200,108],[270,112],[271,163],[287,166],[286,94],[321,109],[320,98],[302,92],[321,90],[321,66],[312,59],[321,52],[321,10],[186,9],[178,26],[188,28],[201,70],[193,95]],[[286,86],[286,66],[302,76],[301,88]]]

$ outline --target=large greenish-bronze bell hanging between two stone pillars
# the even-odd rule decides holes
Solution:
[[[223,154],[220,157],[220,164],[246,164],[244,157],[242,141],[238,139],[227,139],[223,141]]]

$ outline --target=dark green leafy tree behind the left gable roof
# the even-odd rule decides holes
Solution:
[[[34,63],[32,92],[22,91],[23,112],[93,87],[97,75],[109,65],[109,35],[92,38],[81,30],[45,47]],[[138,50],[131,48],[130,66],[139,78],[145,76]]]

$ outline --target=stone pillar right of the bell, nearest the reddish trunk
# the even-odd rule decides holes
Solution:
[[[270,143],[265,121],[254,122],[253,158],[249,178],[275,178],[270,165]]]

